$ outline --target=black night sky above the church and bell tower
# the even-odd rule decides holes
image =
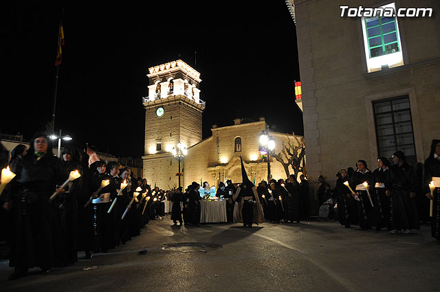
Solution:
[[[148,67],[179,58],[201,73],[203,139],[212,124],[236,117],[264,116],[276,131],[303,135],[296,31],[285,1],[144,2],[3,9],[1,132],[30,139],[52,119],[63,7],[55,130],[71,135],[69,143],[143,155]]]

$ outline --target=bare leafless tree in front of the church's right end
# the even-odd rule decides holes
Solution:
[[[301,160],[304,159],[305,155],[305,144],[303,137],[298,137],[293,133],[294,141],[289,137],[289,142],[287,145],[283,142],[283,149],[278,154],[272,154],[276,161],[283,165],[284,171],[286,172],[286,177],[289,177],[290,171],[289,166],[294,170],[295,178],[298,179],[298,172],[303,172],[305,174],[304,163],[301,166]]]

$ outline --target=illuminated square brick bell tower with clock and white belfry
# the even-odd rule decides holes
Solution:
[[[171,150],[178,142],[187,148],[201,141],[200,73],[182,60],[148,68],[145,108],[144,178],[159,188],[178,181]],[[181,166],[184,168],[184,161]]]

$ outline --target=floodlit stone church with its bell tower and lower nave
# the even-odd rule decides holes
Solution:
[[[219,181],[231,179],[241,182],[240,157],[249,178],[258,183],[267,179],[267,159],[261,155],[259,134],[267,128],[264,117],[259,121],[234,120],[231,126],[212,126],[212,135],[201,139],[201,115],[205,102],[200,99],[200,74],[182,60],[149,68],[148,97],[143,98],[145,108],[144,178],[159,188],[181,186],[192,181],[208,181],[215,186]],[[296,143],[293,135],[269,131],[275,140],[274,153],[283,144]],[[172,149],[181,143],[187,155],[178,161]],[[271,175],[285,178],[283,166],[271,157]]]

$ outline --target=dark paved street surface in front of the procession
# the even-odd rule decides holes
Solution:
[[[428,225],[397,235],[316,221],[171,225],[151,221],[128,245],[47,275],[10,281],[1,261],[0,291],[440,291]]]

